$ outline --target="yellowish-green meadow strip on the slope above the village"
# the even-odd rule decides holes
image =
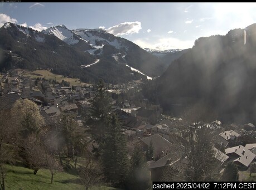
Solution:
[[[61,82],[62,80],[65,80],[67,82],[70,82],[70,85],[74,85],[74,86],[89,85],[85,82],[81,82],[80,79],[71,79],[71,78],[64,77],[62,75],[56,75],[50,72],[49,70],[35,70],[35,71],[28,71],[28,70],[21,70],[21,69],[18,69],[18,70],[22,72],[23,76],[30,76],[31,78],[41,77],[41,78],[45,78],[46,80],[55,79],[57,82]]]

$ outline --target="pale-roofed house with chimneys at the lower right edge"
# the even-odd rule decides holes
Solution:
[[[225,154],[229,156],[229,160],[246,168],[249,167],[256,157],[254,153],[242,145],[225,149]]]

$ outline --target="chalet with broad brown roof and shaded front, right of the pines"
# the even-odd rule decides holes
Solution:
[[[172,143],[170,143],[167,139],[161,137],[159,134],[154,134],[149,137],[145,137],[141,139],[143,144],[143,150],[146,151],[152,142],[153,146],[153,157],[154,158],[162,158],[168,153],[171,152],[173,147]]]

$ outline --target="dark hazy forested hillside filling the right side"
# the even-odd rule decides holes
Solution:
[[[173,114],[200,103],[222,121],[255,123],[255,32],[254,24],[199,38],[144,88],[144,95]]]

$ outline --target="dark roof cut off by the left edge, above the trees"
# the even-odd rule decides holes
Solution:
[[[9,110],[17,100],[20,100],[21,96],[17,93],[3,94],[0,96],[0,110]]]

